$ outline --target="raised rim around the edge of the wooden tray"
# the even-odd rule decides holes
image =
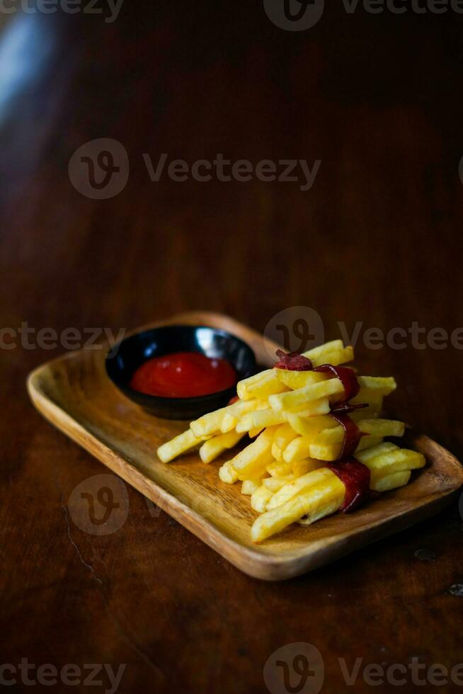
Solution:
[[[263,336],[258,334],[257,331],[248,328],[245,324],[236,321],[236,319],[226,314],[205,311],[188,311],[175,314],[167,319],[150,322],[149,324],[137,327],[133,330],[131,329],[127,331],[125,336],[148,329],[151,326],[172,324],[173,322],[178,323],[181,322],[182,319],[188,321],[188,319],[191,320],[198,314],[202,317],[207,316],[207,319],[214,323],[216,321],[221,322],[226,320],[231,324],[236,324],[236,326],[241,329],[246,329],[256,338],[263,339]],[[278,347],[276,343],[272,343],[268,340],[266,342],[270,343],[272,346]],[[162,511],[165,511],[168,515],[178,520],[178,522],[190,530],[191,533],[199,537],[202,542],[205,542],[213,550],[222,555],[222,557],[227,559],[227,561],[253,578],[267,581],[290,579],[304,574],[307,571],[319,568],[324,564],[336,561],[346,554],[358,550],[360,547],[365,547],[382,537],[393,534],[396,532],[396,530],[394,530],[394,525],[400,525],[400,529],[406,529],[421,520],[425,520],[425,518],[435,515],[435,513],[438,513],[442,508],[445,508],[445,506],[452,502],[453,496],[458,493],[463,485],[463,467],[457,458],[428,436],[414,433],[413,439],[416,442],[421,442],[423,446],[437,447],[439,453],[449,457],[449,462],[455,467],[455,474],[452,475],[452,478],[454,478],[455,481],[459,479],[459,484],[456,484],[452,489],[442,490],[435,498],[423,501],[415,508],[405,509],[384,520],[379,518],[375,522],[370,523],[367,529],[358,530],[356,533],[338,533],[330,538],[325,538],[322,542],[309,541],[307,542],[307,552],[301,553],[299,551],[295,554],[288,552],[280,557],[266,554],[258,549],[264,545],[256,545],[256,549],[253,549],[241,545],[240,542],[229,537],[227,533],[224,533],[214,525],[214,523],[207,520],[205,516],[202,516],[202,514],[195,511],[194,508],[180,501],[171,491],[164,489],[164,487],[161,487],[154,479],[147,477],[136,465],[133,465],[122,453],[119,453],[118,450],[113,450],[113,448],[110,448],[106,443],[103,443],[102,440],[88,431],[79,421],[74,419],[67,411],[62,409],[62,407],[53,402],[53,400],[45,394],[40,385],[40,378],[42,375],[47,370],[52,369],[57,363],[62,363],[65,360],[79,360],[83,352],[84,350],[80,349],[72,351],[71,353],[58,355],[52,360],[42,363],[42,365],[39,365],[29,373],[26,385],[29,397],[35,408],[52,424],[52,426],[57,428],[58,431],[69,436],[74,443],[77,443],[84,448],[84,450],[93,455],[93,457],[96,457],[99,462],[103,463],[103,465],[108,467],[115,474],[118,474],[119,477],[139,491],[140,494],[147,496],[147,498],[158,505]],[[136,485],[134,484],[134,477],[137,479]],[[405,519],[407,519],[406,523],[404,523]],[[366,538],[365,535],[367,535]],[[358,542],[355,542],[356,539]],[[336,545],[340,545],[340,543],[343,545],[345,540],[348,540],[350,546],[346,547],[345,551],[331,552],[333,556],[330,556],[330,548],[332,548],[333,545],[336,547]],[[328,557],[326,557],[326,554]]]

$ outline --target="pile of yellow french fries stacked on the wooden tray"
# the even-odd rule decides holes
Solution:
[[[314,367],[338,366],[353,360],[353,348],[341,340],[304,353]],[[425,465],[421,453],[384,442],[402,436],[404,423],[381,419],[383,398],[396,389],[391,377],[358,376],[360,391],[350,402],[366,404],[350,414],[363,433],[355,458],[370,470],[370,489],[404,487],[411,471]],[[329,416],[344,387],[331,373],[273,368],[246,378],[236,387],[238,399],[205,414],[158,449],[162,462],[199,447],[210,463],[248,436],[251,443],[219,468],[222,482],[241,482],[251,507],[261,514],[251,528],[261,542],[291,523],[314,523],[336,513],[345,498],[345,485],[326,467],[338,460],[343,445],[341,424]]]

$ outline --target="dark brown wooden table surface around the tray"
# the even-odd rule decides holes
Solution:
[[[319,649],[328,694],[375,690],[362,676],[372,663],[462,663],[457,501],[314,574],[266,584],[130,488],[120,529],[82,532],[69,496],[105,468],[25,391],[30,370],[66,351],[34,343],[44,327],[118,331],[200,308],[262,331],[306,306],[326,339],[338,322],[350,333],[361,322],[362,370],[401,386],[391,410],[462,457],[463,341],[416,348],[408,335],[404,349],[373,350],[363,340],[371,327],[416,322],[425,341],[463,326],[462,16],[339,3],[290,32],[261,2],[125,0],[113,23],[60,11],[0,25],[1,326],[33,329],[28,344],[24,332],[1,334],[1,662],[126,664],[120,692],[193,694],[267,692],[265,662],[295,642]],[[68,175],[96,138],[118,140],[130,159],[127,186],[107,200]],[[306,191],[256,178],[152,182],[143,154],[162,153],[321,166]],[[355,687],[342,658],[349,670],[360,659]],[[18,669],[16,681],[11,690],[29,690]],[[46,690],[69,687],[58,677]],[[72,690],[87,690],[83,678]],[[91,691],[104,690],[108,678]],[[416,686],[408,675],[376,690]]]

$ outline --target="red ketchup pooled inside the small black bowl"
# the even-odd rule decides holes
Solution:
[[[135,371],[130,387],[148,395],[195,397],[231,388],[236,380],[236,371],[224,359],[177,352],[147,360]]]

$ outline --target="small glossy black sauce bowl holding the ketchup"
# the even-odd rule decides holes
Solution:
[[[196,419],[223,407],[236,395],[235,387],[195,397],[148,395],[130,387],[132,375],[145,361],[175,352],[200,352],[210,358],[224,359],[236,371],[237,380],[256,370],[256,357],[251,347],[227,331],[206,326],[168,325],[144,330],[120,341],[106,355],[106,373],[126,397],[163,419]]]

